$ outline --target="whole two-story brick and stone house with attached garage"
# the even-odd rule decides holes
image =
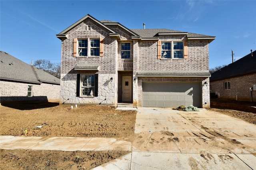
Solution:
[[[210,107],[213,36],[130,30],[89,14],[56,36],[62,40],[61,103]]]

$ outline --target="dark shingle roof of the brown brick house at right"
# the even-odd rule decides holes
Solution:
[[[210,81],[216,81],[250,73],[256,73],[256,51],[253,51],[252,54],[249,53],[248,55],[238,59],[234,63],[231,63],[218,71],[215,71],[212,73]]]

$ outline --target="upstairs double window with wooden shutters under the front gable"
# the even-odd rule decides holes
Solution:
[[[100,56],[100,39],[78,39],[78,56]]]

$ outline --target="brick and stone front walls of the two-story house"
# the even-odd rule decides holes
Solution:
[[[137,77],[138,71],[208,71],[208,40],[188,40],[187,35],[159,36],[159,39],[136,40],[134,34],[118,24],[107,22],[108,28],[118,33],[119,38],[110,36],[112,32],[93,18],[85,18],[68,30],[68,36],[62,39],[61,61],[61,102],[70,99],[69,103],[117,105],[122,102],[122,76],[132,76],[132,103],[134,107],[142,106],[142,81],[147,77]],[[73,57],[74,38],[104,38],[103,57]],[[60,38],[61,39],[61,38]],[[158,40],[188,42],[187,59],[158,59]],[[131,43],[130,59],[121,58],[121,43]],[[76,64],[98,64],[98,96],[76,97]],[[82,71],[90,73],[90,71]],[[113,78],[109,83],[110,77]],[[210,107],[209,90],[203,88],[208,77],[150,77],[156,82],[197,82],[202,84],[202,107]],[[106,100],[105,100],[106,99]],[[102,102],[104,101],[104,102]],[[207,103],[204,105],[204,103]]]

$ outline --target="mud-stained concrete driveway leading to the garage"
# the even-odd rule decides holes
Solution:
[[[132,152],[97,169],[256,170],[256,125],[221,113],[138,108]]]

